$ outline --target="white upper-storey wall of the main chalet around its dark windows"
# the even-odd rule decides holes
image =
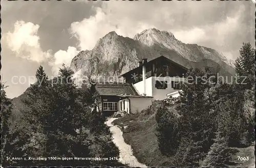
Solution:
[[[166,89],[157,89],[155,87],[155,81],[159,80],[159,81],[167,81],[167,88]],[[172,88],[172,82],[171,81],[175,81],[175,82],[181,82],[184,81],[185,78],[173,78],[173,77],[152,77],[152,96],[154,97],[154,100],[163,100],[166,99],[167,96],[166,94],[168,93],[172,93],[175,91],[178,91],[178,89],[173,89]]]

